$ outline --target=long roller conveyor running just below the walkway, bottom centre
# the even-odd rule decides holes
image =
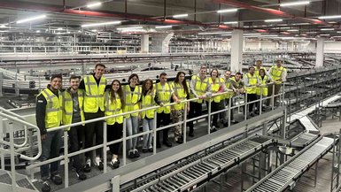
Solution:
[[[221,173],[222,170],[229,169],[244,161],[268,145],[272,144],[272,139],[256,135],[236,142],[228,147],[218,150],[213,154],[198,159],[190,165],[185,165],[178,170],[167,173],[152,180],[143,186],[132,191],[185,191],[189,188],[196,188],[198,185]]]

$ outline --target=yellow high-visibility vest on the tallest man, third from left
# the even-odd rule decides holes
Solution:
[[[84,78],[85,96],[84,96],[84,112],[95,113],[98,107],[101,111],[105,111],[105,86],[107,80],[101,77],[99,84],[93,75]]]

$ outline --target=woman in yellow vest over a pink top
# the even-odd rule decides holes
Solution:
[[[224,91],[228,91],[228,89],[225,87],[224,79],[219,77],[218,69],[213,69],[211,71],[211,77],[208,79],[208,82],[211,84],[212,94],[217,94],[217,93],[221,93]],[[220,95],[220,96],[211,97],[211,100],[206,99],[207,108],[208,108],[208,102],[211,101],[211,112],[222,110],[221,101],[224,97],[225,97],[224,95]],[[216,127],[218,127],[218,116],[219,116],[218,113],[213,115],[211,132],[217,131]],[[223,119],[223,117],[221,117],[221,119]]]

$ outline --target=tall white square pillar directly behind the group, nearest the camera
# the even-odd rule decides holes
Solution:
[[[231,38],[231,71],[241,72],[243,64],[243,30],[233,30]]]

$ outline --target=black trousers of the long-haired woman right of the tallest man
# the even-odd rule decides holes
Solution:
[[[122,137],[123,134],[123,123],[114,123],[113,125],[106,126],[106,138],[108,142],[112,142],[114,140],[118,140]],[[110,152],[112,155],[118,155],[120,150],[120,143],[117,142],[112,145],[109,145]]]

